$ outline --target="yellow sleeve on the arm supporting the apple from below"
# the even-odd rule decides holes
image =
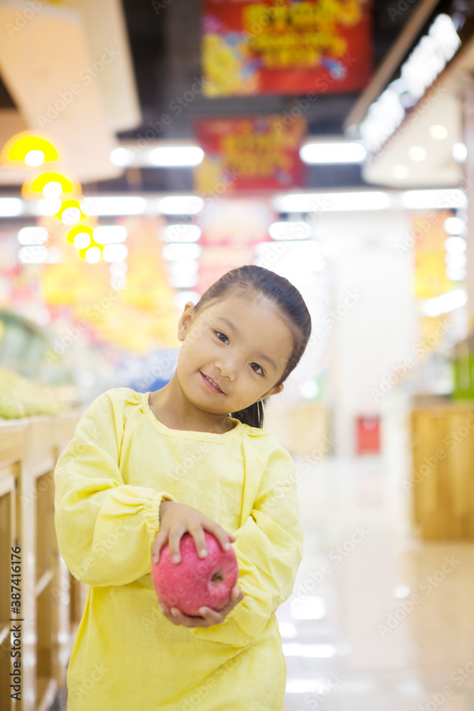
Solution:
[[[244,599],[222,624],[188,629],[195,637],[242,647],[262,634],[271,614],[289,598],[303,557],[295,468],[285,449],[271,452],[252,513],[233,533],[237,586]]]

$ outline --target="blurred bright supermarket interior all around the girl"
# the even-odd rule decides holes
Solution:
[[[0,0],[0,26],[0,711],[106,709],[100,674],[68,689],[94,586],[55,467],[104,392],[176,378],[185,304],[244,264],[312,324],[264,409],[304,544],[284,706],[252,710],[474,711],[474,3]]]

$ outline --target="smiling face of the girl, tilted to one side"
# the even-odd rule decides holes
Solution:
[[[231,293],[202,311],[188,301],[178,338],[176,373],[200,410],[227,415],[283,390],[275,385],[293,351],[293,333],[261,294]]]

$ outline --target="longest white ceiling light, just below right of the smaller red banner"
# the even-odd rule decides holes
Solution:
[[[280,213],[343,212],[345,210],[384,210],[390,198],[381,191],[351,193],[294,193],[274,198]]]

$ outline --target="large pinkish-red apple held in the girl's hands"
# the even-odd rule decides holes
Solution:
[[[230,600],[239,578],[239,565],[232,546],[222,550],[212,533],[204,532],[208,555],[198,557],[193,536],[181,537],[179,563],[171,562],[169,543],[163,545],[160,558],[151,567],[158,600],[168,609],[176,607],[185,615],[200,616],[200,607],[220,610]]]

